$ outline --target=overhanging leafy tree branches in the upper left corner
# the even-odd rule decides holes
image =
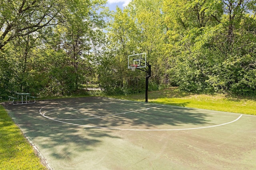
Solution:
[[[0,49],[16,37],[55,25],[64,7],[62,0],[3,0],[0,4]]]

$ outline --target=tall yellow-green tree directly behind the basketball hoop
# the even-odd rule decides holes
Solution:
[[[130,54],[147,53],[147,61],[152,64],[152,78],[161,82],[160,74],[165,69],[159,66],[163,61],[162,44],[166,27],[163,24],[161,0],[133,0],[124,10],[116,9],[110,23],[111,48],[116,50],[119,72],[122,72],[123,86],[130,91],[144,88],[144,72],[130,72],[127,69],[127,57]],[[159,63],[158,63],[159,62]],[[143,81],[138,81],[142,79]],[[142,84],[137,84],[137,82]],[[140,90],[141,91],[141,90]]]

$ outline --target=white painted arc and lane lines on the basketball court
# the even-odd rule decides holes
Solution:
[[[128,100],[126,100],[126,101],[128,101]],[[113,102],[110,102],[110,103],[113,103]],[[107,104],[110,104],[110,103],[107,103]],[[157,105],[157,104],[153,104],[153,105]],[[46,106],[49,106],[49,105],[46,105]],[[46,107],[46,106],[44,106],[44,107]],[[90,106],[93,106],[93,105],[90,105]],[[155,106],[155,107],[161,107],[161,106],[168,106],[168,105],[159,105],[159,106]],[[227,125],[227,124],[233,123],[235,121],[238,121],[242,117],[242,115],[243,115],[243,114],[240,114],[240,116],[238,118],[236,118],[233,121],[227,122],[227,123],[222,123],[220,125],[206,126],[206,127],[184,128],[184,129],[122,129],[122,128],[112,128],[112,127],[97,127],[97,126],[89,126],[89,125],[80,125],[80,124],[76,124],[76,123],[69,123],[69,122],[65,122],[65,121],[60,121],[59,119],[55,119],[55,118],[46,116],[45,113],[47,113],[49,111],[46,111],[45,113],[42,113],[42,109],[44,107],[42,107],[39,110],[40,114],[43,117],[45,117],[47,119],[50,119],[50,120],[53,120],[53,121],[58,121],[60,123],[65,123],[65,124],[70,124],[70,125],[77,125],[77,126],[82,126],[82,127],[90,127],[90,128],[98,128],[98,129],[112,129],[112,130],[126,130],[126,131],[181,131],[181,130],[205,129],[205,128],[218,127],[218,126],[222,126],[222,125]],[[179,106],[174,106],[174,107],[179,107]],[[70,108],[70,107],[66,107],[66,108]],[[102,117],[108,117],[108,116],[119,115],[119,114],[126,114],[126,113],[130,113],[130,112],[142,111],[142,110],[151,109],[151,108],[154,108],[154,107],[138,109],[138,110],[135,110],[135,111],[127,111],[127,112],[123,112],[123,113],[116,113],[116,114],[106,115],[106,116],[102,116]],[[190,108],[190,107],[180,107],[180,108]],[[72,108],[70,108],[70,109],[72,109]],[[192,108],[192,109],[196,109],[196,108]],[[56,110],[56,109],[52,109],[50,111],[53,111],[53,110]],[[199,110],[213,111],[213,110],[208,110],[208,109],[199,109]],[[216,111],[216,112],[230,113],[230,112],[222,112],[222,111]],[[234,114],[238,114],[238,113],[234,113]],[[102,118],[102,117],[94,117],[94,118],[87,118],[87,119],[98,119],[98,118]],[[71,119],[71,120],[75,120],[75,119]],[[82,119],[79,119],[79,120],[82,120]]]

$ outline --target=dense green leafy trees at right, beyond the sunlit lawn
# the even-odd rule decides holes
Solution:
[[[254,10],[255,0],[165,1],[172,80],[186,90],[255,91]]]

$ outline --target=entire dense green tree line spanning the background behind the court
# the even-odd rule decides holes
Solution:
[[[145,72],[127,57],[147,53],[150,88],[256,92],[256,0],[0,2],[0,97],[68,95],[94,81],[108,93],[142,92]]]

